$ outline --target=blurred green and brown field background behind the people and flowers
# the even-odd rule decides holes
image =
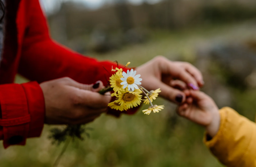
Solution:
[[[188,61],[205,79],[202,89],[221,108],[254,120],[256,111],[255,0],[41,0],[53,39],[100,60],[136,67],[157,55]],[[16,82],[26,79],[17,76]],[[163,99],[158,114],[102,115],[74,142],[59,167],[221,167],[202,143],[204,129]],[[0,148],[1,167],[50,167],[63,144],[42,136],[26,146]],[[2,142],[2,141],[1,141]]]

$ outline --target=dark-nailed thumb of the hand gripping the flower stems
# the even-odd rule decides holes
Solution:
[[[97,81],[97,82],[95,82],[93,84],[89,84],[89,85],[73,81],[71,83],[71,86],[74,86],[74,87],[77,87],[77,88],[83,89],[83,90],[90,90],[93,92],[98,92],[99,90],[104,88],[102,81]]]

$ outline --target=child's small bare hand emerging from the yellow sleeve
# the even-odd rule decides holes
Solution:
[[[195,90],[185,90],[187,100],[178,107],[177,113],[192,122],[206,128],[211,137],[214,137],[220,126],[219,109],[215,102],[205,93]]]

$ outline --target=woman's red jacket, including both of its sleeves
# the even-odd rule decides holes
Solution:
[[[10,1],[9,1],[10,2]],[[8,2],[7,2],[8,3]],[[7,32],[5,48],[0,65],[0,139],[8,147],[9,139],[22,136],[24,145],[27,137],[41,134],[45,103],[38,83],[60,77],[91,84],[101,80],[107,84],[109,78],[102,66],[110,70],[115,63],[85,57],[53,41],[48,32],[46,18],[38,0],[14,0],[7,4]],[[13,84],[16,73],[34,82]],[[127,114],[133,114],[136,108]],[[120,112],[109,110],[119,116]]]

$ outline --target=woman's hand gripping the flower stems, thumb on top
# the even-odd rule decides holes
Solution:
[[[104,113],[111,100],[110,94],[98,93],[101,81],[86,85],[68,77],[40,84],[46,106],[45,123],[84,124]]]

